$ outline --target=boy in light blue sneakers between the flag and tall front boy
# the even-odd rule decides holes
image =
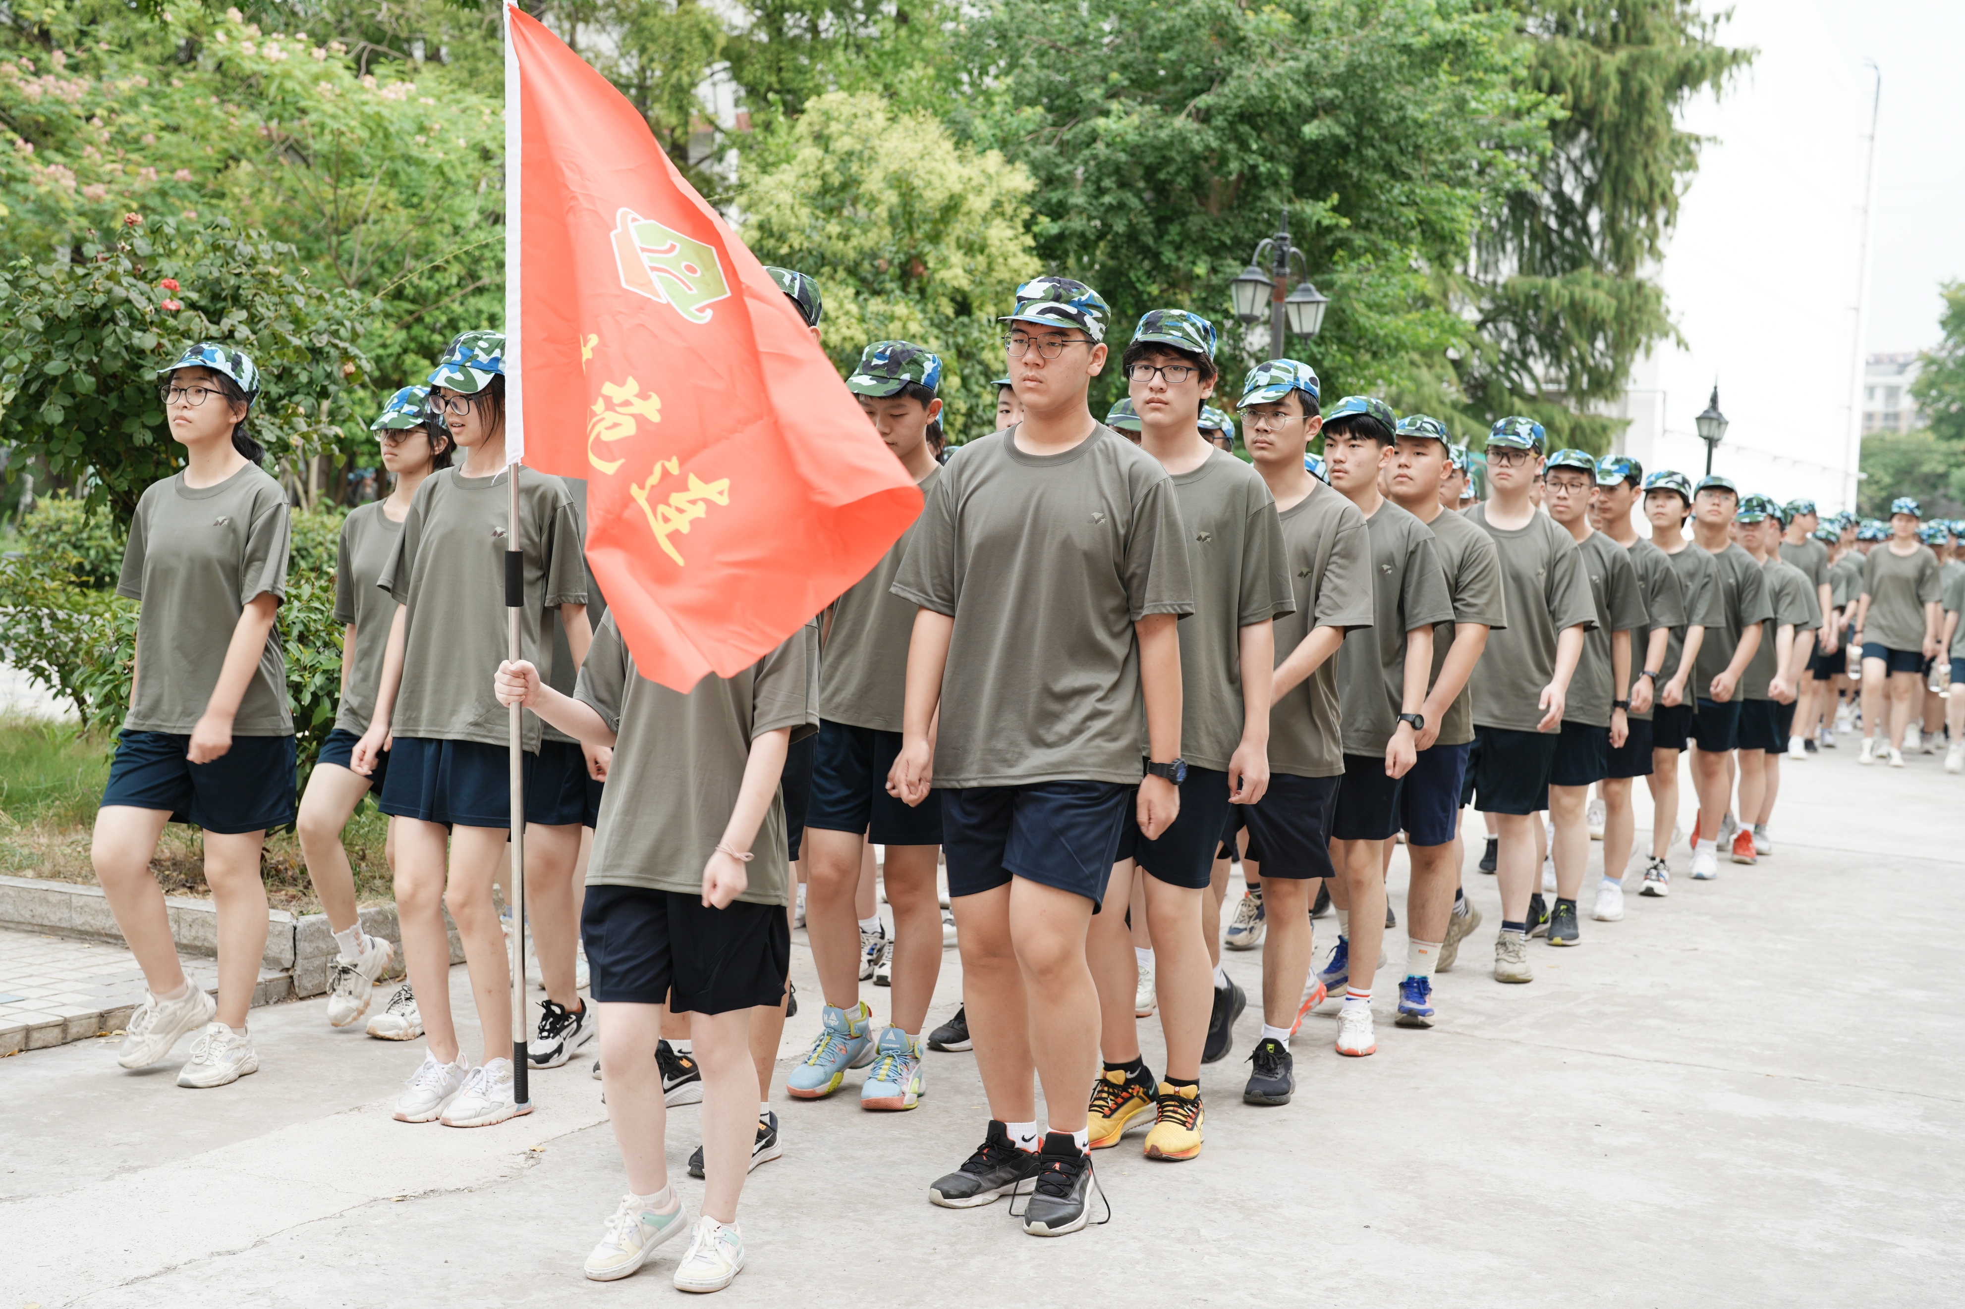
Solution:
[[[927,426],[941,416],[941,357],[908,341],[874,341],[847,377],[874,432],[922,495],[941,465]],[[786,1089],[831,1095],[849,1068],[872,1066],[863,1109],[914,1109],[927,1089],[922,1021],[941,971],[941,807],[908,807],[886,791],[900,754],[908,640],[916,606],[892,593],[914,526],[833,602],[819,683],[819,734],[806,809],[806,934],[825,997],[823,1022]],[[867,844],[886,846],[886,899],[894,909],[890,1022],[872,1030],[859,997],[861,928],[853,905]]]

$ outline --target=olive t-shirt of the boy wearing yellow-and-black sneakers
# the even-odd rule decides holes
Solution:
[[[1177,628],[1181,758],[1226,771],[1242,744],[1242,628],[1297,608],[1283,524],[1262,473],[1226,449],[1171,477],[1195,583],[1195,612]]]

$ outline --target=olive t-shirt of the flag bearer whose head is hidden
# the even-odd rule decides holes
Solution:
[[[737,807],[751,742],[778,728],[792,728],[796,742],[819,728],[817,644],[817,626],[808,622],[735,677],[711,673],[682,695],[643,677],[613,614],[601,620],[574,693],[615,730],[590,887],[702,895],[703,864]],[[782,787],[751,854],[749,885],[737,899],[784,905],[792,865]]]

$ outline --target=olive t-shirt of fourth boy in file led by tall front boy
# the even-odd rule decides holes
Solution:
[[[1381,500],[1366,518],[1372,540],[1372,630],[1350,632],[1338,652],[1344,754],[1381,756],[1399,728],[1405,699],[1405,636],[1452,622],[1454,597],[1440,571],[1432,532]]]

